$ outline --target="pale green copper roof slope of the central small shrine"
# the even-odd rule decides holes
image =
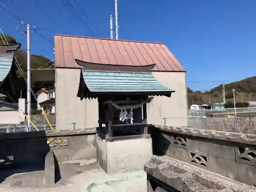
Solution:
[[[82,76],[91,92],[172,93],[156,80],[151,72],[111,72],[82,69]]]

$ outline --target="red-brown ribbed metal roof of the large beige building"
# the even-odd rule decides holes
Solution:
[[[110,65],[144,66],[185,72],[164,44],[78,36],[54,36],[55,68],[81,68],[75,59]]]

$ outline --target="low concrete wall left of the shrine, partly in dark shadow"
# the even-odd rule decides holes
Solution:
[[[96,129],[0,134],[0,169],[45,167],[50,149],[58,161],[96,157]]]

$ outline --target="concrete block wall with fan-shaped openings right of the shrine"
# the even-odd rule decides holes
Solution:
[[[256,186],[256,135],[153,126],[153,154]]]

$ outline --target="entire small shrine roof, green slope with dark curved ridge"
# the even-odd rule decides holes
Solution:
[[[117,66],[83,63],[77,96],[80,99],[102,94],[164,95],[170,97],[172,89],[157,81],[150,66]],[[117,70],[116,68],[119,68]],[[121,71],[122,69],[122,71]]]

